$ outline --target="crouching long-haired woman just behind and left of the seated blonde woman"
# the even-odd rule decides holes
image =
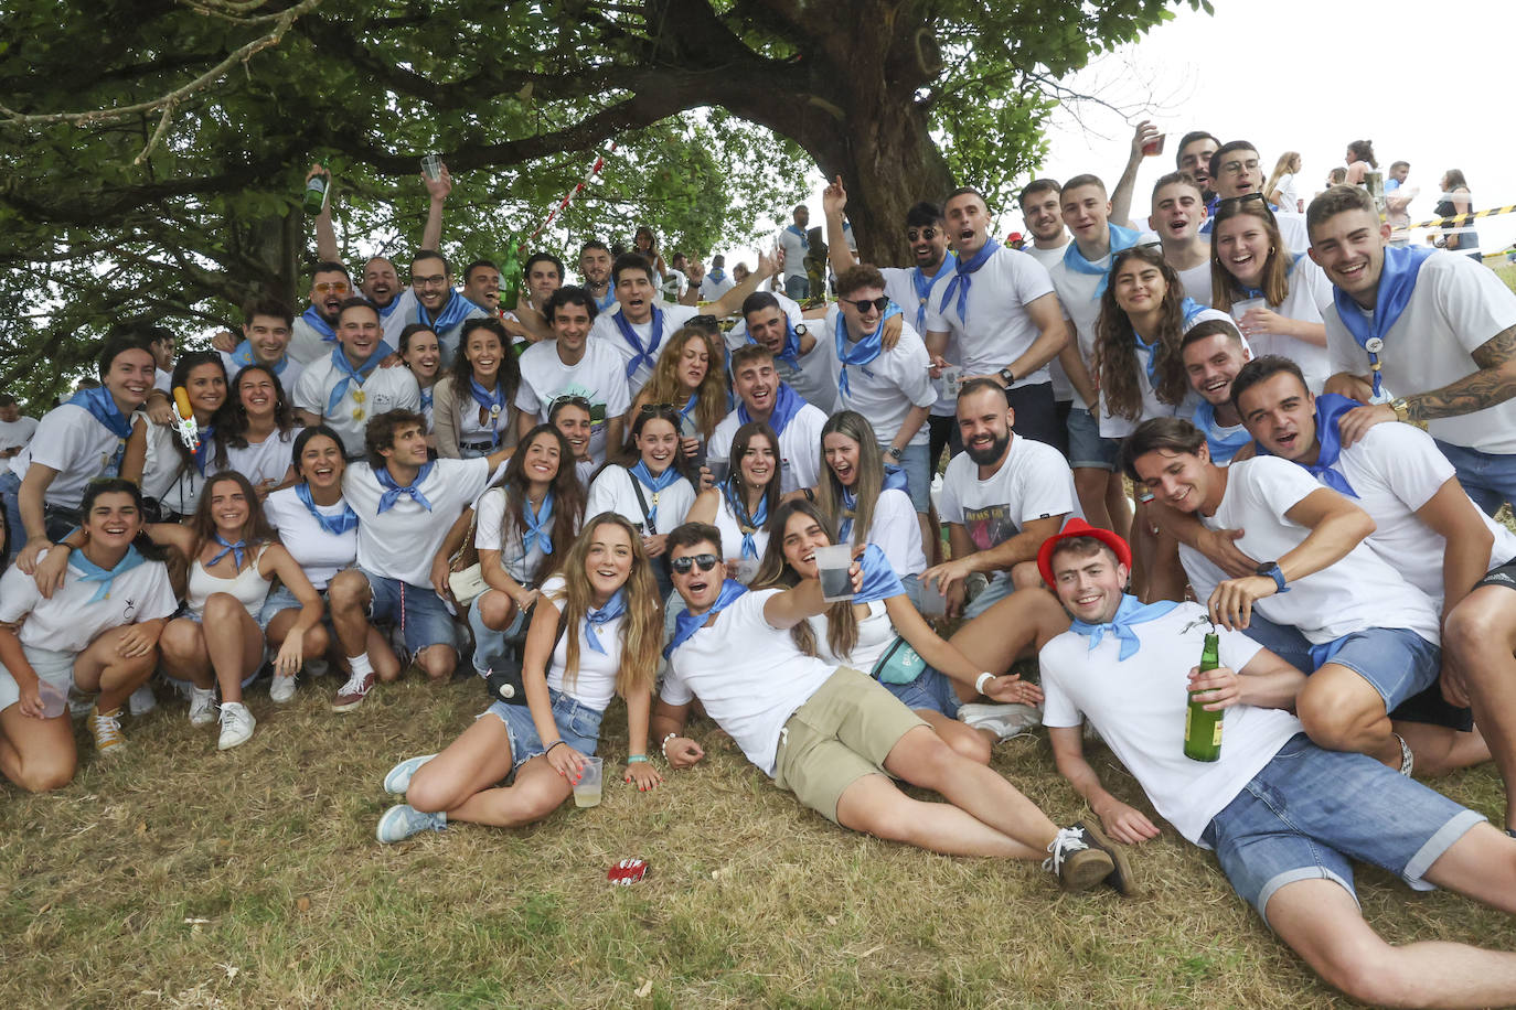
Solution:
[[[475,669],[484,677],[509,659],[506,639],[523,633],[537,588],[579,535],[584,486],[568,439],[550,424],[528,432],[500,485],[479,495],[475,510],[475,548],[490,588],[468,607],[468,627]]]

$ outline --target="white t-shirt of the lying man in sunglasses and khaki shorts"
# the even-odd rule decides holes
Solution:
[[[776,592],[782,591],[744,594],[716,615],[716,624],[691,634],[669,657],[659,690],[672,706],[699,698],[706,715],[770,778],[779,730],[835,671],[769,624],[763,607]]]

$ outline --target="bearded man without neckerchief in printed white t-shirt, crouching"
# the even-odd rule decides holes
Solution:
[[[1011,569],[1037,557],[1067,516],[1081,515],[1069,463],[1051,445],[1016,435],[1014,422],[1016,410],[994,380],[972,379],[958,392],[964,451],[948,463],[938,498],[952,560],[922,572],[922,584],[940,580],[951,615],[963,610],[964,583],[973,572],[990,584],[964,610],[966,618],[1010,595],[1016,589]]]

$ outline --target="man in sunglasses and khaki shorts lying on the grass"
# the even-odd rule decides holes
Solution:
[[[790,628],[826,612],[820,583],[749,592],[726,578],[722,535],[702,522],[669,533],[673,586],[688,610],[664,650],[669,674],[652,730],[672,768],[705,753],[681,736],[696,698],[753,765],[822,816],[952,856],[1043,859],[1066,890],[1102,880],[1126,892],[1122,856],[1093,825],[1058,828],[1031,800],[963,757],[866,674],[799,650]],[[854,586],[861,569],[854,563]],[[923,803],[894,778],[932,789]]]

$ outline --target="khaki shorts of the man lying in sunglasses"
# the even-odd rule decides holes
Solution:
[[[887,775],[884,759],[919,725],[926,722],[875,680],[838,666],[779,731],[773,781],[835,824],[847,786]]]

